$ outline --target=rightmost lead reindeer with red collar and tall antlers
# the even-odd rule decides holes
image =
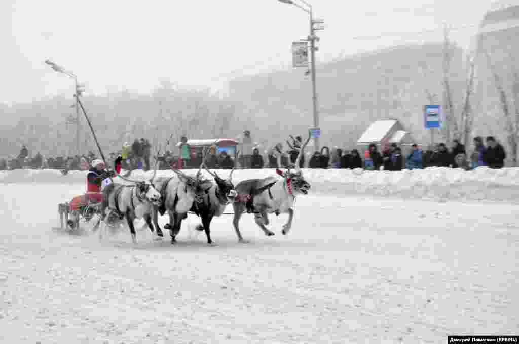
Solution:
[[[282,177],[279,179],[275,176],[264,179],[248,179],[236,185],[236,191],[239,196],[236,202],[233,203],[234,219],[233,225],[238,236],[239,242],[245,242],[241,236],[239,229],[239,222],[242,214],[247,209],[247,212],[253,212],[255,221],[261,227],[265,235],[274,235],[274,232],[269,231],[265,225],[269,224],[268,214],[275,213],[278,216],[280,213],[288,213],[289,219],[283,225],[281,233],[286,235],[292,227],[292,219],[294,217],[293,204],[296,195],[308,194],[310,184],[303,177],[303,172],[299,168],[299,162],[303,151],[310,140],[310,135],[305,141],[295,162],[295,172],[290,167],[286,171],[276,170],[276,173]],[[278,166],[281,165],[281,156],[278,154]]]

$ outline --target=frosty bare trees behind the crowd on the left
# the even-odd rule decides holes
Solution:
[[[71,103],[70,99],[54,97],[34,102],[31,107],[15,104],[1,109],[3,117],[16,116],[19,120],[16,126],[0,126],[0,156],[18,154],[23,144],[33,155],[37,151],[46,156],[75,155],[75,125],[66,124],[73,111]],[[168,138],[173,146],[182,135],[220,137],[229,130],[237,111],[233,103],[209,91],[182,89],[168,80],[151,94],[121,91],[86,96],[83,104],[101,147],[112,151],[140,137],[148,138],[154,146],[163,146]],[[80,153],[97,152],[83,116],[80,121]]]

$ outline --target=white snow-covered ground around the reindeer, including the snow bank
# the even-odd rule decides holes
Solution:
[[[271,173],[238,170],[235,181]],[[251,242],[240,244],[225,216],[208,247],[190,216],[176,246],[146,229],[133,247],[127,231],[100,242],[90,224],[52,229],[58,203],[84,192],[84,172],[0,173],[0,342],[441,343],[519,332],[519,170],[305,174],[313,190],[297,199],[288,236],[286,216],[271,218],[273,237],[244,216]]]

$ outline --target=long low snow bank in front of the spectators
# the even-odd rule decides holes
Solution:
[[[186,170],[194,175],[197,170]],[[0,171],[1,183],[86,183],[86,171],[70,171],[62,175],[58,170]],[[151,178],[153,172],[134,171],[130,178]],[[227,177],[229,170],[218,170]],[[473,171],[450,168],[425,170],[364,171],[362,169],[304,169],[312,184],[312,192],[319,194],[394,196],[402,198],[447,200],[486,200],[519,203],[519,168],[499,170],[480,167]],[[172,176],[160,170],[157,176]],[[207,174],[206,174],[207,175]],[[272,169],[236,170],[235,183],[249,178],[275,175]],[[208,175],[207,175],[208,176]]]

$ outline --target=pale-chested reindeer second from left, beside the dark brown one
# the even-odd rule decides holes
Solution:
[[[169,223],[164,226],[164,229],[170,231],[172,244],[176,242],[176,236],[180,232],[182,220],[187,218],[187,212],[193,206],[193,202],[195,202],[195,199],[197,199],[197,202],[200,202],[202,185],[210,182],[209,180],[200,180],[200,169],[195,177],[173,169],[176,173],[176,178],[158,178],[155,183],[161,195],[162,205],[153,207],[153,221],[157,232],[162,232],[158,223],[158,214],[160,213],[163,216],[168,211]]]

